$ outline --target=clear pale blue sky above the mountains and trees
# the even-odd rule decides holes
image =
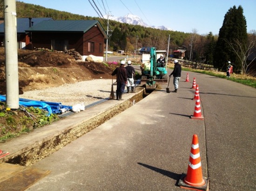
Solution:
[[[25,3],[98,17],[92,7],[97,5],[102,15],[115,17],[126,14],[139,16],[148,25],[171,28],[174,31],[198,34],[218,34],[230,7],[241,5],[247,21],[247,32],[256,30],[256,0],[19,0]],[[92,5],[90,4],[92,3]],[[103,2],[103,3],[102,3]],[[105,8],[104,8],[104,6]],[[97,8],[95,7],[97,10]],[[98,11],[98,10],[97,10]]]

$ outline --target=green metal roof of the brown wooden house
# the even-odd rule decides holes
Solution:
[[[26,30],[26,32],[87,32],[91,27],[97,25],[105,38],[106,32],[103,30],[98,20],[45,20]]]

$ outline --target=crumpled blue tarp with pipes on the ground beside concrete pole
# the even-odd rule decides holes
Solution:
[[[0,95],[0,101],[6,102],[6,96]],[[51,114],[61,114],[61,109],[65,109],[68,111],[69,109],[72,109],[72,106],[65,106],[62,105],[59,102],[45,102],[45,101],[35,101],[35,100],[28,100],[28,99],[19,99],[19,105],[25,106],[25,107],[34,107],[34,108],[40,108],[44,109],[48,112],[48,116]]]

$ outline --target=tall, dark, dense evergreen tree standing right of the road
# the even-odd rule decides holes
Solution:
[[[243,45],[244,49],[246,48],[247,26],[242,6],[238,6],[237,9],[236,6],[233,6],[225,14],[214,53],[214,66],[216,68],[224,70],[227,62],[230,61],[234,65],[234,70],[241,70],[242,64],[229,45],[237,41]]]

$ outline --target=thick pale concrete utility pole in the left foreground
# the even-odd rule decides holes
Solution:
[[[6,104],[11,109],[20,107],[16,15],[16,0],[4,0]]]

